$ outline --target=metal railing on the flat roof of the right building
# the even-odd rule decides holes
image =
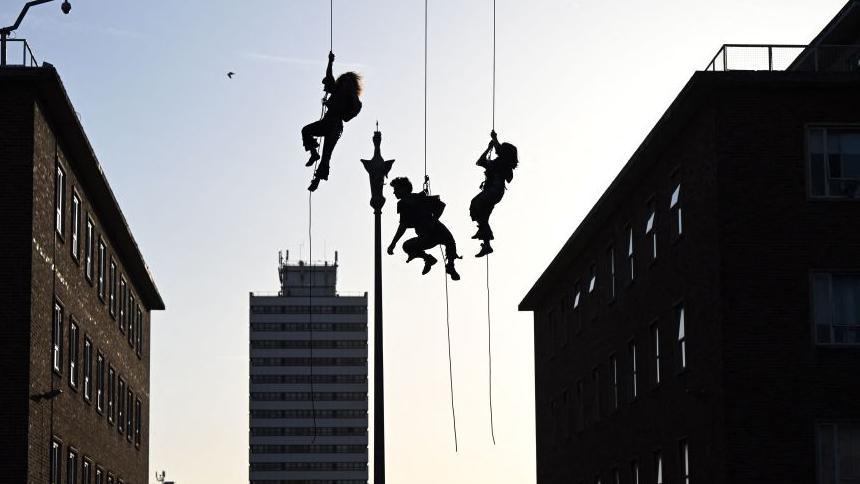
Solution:
[[[726,44],[706,71],[860,71],[860,45]]]

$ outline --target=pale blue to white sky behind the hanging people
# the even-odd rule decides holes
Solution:
[[[0,24],[23,3],[2,2]],[[335,72],[364,76],[364,109],[313,196],[312,247],[299,132],[319,116],[329,2],[72,4],[68,16],[59,2],[31,10],[17,37],[58,69],[167,305],[152,317],[151,474],[247,482],[248,294],[277,291],[279,250],[293,261],[337,250],[339,290],[372,290],[358,160],[378,120],[392,175],[420,184],[424,4],[334,0]],[[427,167],[466,255],[449,282],[459,451],[441,264],[421,276],[398,250],[383,263],[389,482],[535,482],[532,315],[517,303],[722,44],[807,43],[843,4],[496,0],[496,131],[520,167],[491,219],[493,445],[487,267],[468,215],[491,128],[492,1],[430,0]],[[397,224],[386,196],[383,244]]]

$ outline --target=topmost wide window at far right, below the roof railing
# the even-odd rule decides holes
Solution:
[[[860,128],[809,130],[809,190],[815,198],[860,198]]]

